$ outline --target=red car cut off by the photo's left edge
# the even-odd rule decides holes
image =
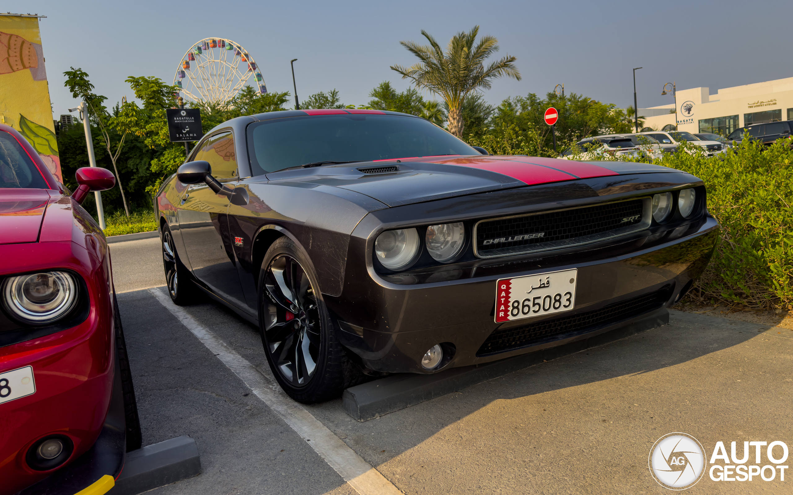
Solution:
[[[140,447],[110,255],[80,206],[116,180],[77,181],[0,124],[0,495],[105,493]]]

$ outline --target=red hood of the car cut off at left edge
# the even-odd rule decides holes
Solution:
[[[38,241],[49,199],[46,189],[0,189],[0,244]]]

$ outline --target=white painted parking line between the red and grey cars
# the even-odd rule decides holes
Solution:
[[[289,398],[280,387],[270,383],[253,364],[245,360],[243,356],[239,356],[210,329],[197,322],[182,307],[174,305],[170,298],[159,289],[150,288],[148,291],[182,322],[182,325],[198,337],[198,340],[206,348],[209,348],[209,351],[228,369],[232,370],[256,394],[256,397],[270,406],[270,409],[273,409],[278,416],[286,421],[289,427],[305,440],[311,440],[308,444],[344,478],[345,482],[350,483],[356,492],[361,495],[397,495],[402,493],[393,483],[385,479],[380,471],[374,469],[360,455],[347,447],[347,444],[320,423],[316,417],[313,417],[312,413]]]

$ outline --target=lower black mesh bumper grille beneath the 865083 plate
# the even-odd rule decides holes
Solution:
[[[542,341],[575,337],[582,333],[592,332],[598,328],[656,310],[663,306],[671,295],[671,287],[666,286],[622,303],[610,304],[600,310],[543,320],[526,326],[496,329],[481,345],[477,356],[488,356],[497,352],[537,345]]]

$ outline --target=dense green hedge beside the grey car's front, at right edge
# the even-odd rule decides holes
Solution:
[[[793,306],[791,147],[793,139],[780,139],[769,147],[744,139],[711,158],[693,147],[695,154],[676,153],[655,162],[705,181],[708,211],[722,227],[717,251],[689,299]]]

